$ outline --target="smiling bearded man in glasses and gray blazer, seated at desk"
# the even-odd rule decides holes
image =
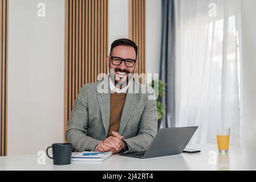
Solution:
[[[137,46],[132,40],[111,44],[110,75],[84,85],[75,100],[66,132],[75,150],[147,150],[157,133],[157,107],[156,100],[149,98],[155,94],[153,89],[133,78],[137,64]]]

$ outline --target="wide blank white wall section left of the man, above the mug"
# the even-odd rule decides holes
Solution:
[[[37,5],[46,5],[39,18]],[[7,155],[63,142],[64,0],[9,1]]]

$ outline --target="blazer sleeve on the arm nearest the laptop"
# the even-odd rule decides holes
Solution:
[[[155,93],[154,93],[155,94]],[[156,100],[147,99],[145,109],[141,116],[139,133],[136,137],[123,139],[127,143],[127,152],[145,151],[148,149],[157,133],[157,107]]]

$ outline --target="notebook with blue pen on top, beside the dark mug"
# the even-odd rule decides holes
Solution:
[[[86,161],[103,161],[109,158],[112,155],[112,152],[88,152],[84,151],[78,155],[72,156],[72,160],[86,160]]]

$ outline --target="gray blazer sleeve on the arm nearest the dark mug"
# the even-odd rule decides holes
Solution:
[[[72,143],[77,151],[94,151],[100,140],[87,136],[88,129],[88,91],[87,85],[84,85],[76,100],[68,120],[68,128],[66,131],[66,140]]]

